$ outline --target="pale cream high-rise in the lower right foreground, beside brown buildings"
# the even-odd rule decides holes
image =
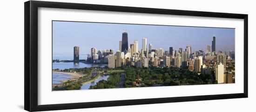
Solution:
[[[217,65],[215,77],[218,84],[224,83],[224,65],[222,63]]]

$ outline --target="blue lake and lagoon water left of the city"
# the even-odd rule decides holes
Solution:
[[[60,59],[60,60],[72,60],[73,55],[72,54],[54,54],[53,59]],[[87,59],[86,55],[80,55],[80,59]],[[84,68],[84,67],[94,67],[94,66],[99,66],[99,67],[105,67],[107,65],[105,64],[85,64],[85,63],[74,63],[74,62],[60,62],[60,63],[53,63],[53,69],[68,69],[68,68]],[[68,74],[62,74],[62,73],[53,73],[53,84],[61,84],[60,80],[68,80],[68,78],[74,77],[72,75]],[[100,80],[107,80],[108,76],[101,76],[98,79],[86,83],[81,86],[81,89],[89,89],[90,86],[96,85],[97,82]]]

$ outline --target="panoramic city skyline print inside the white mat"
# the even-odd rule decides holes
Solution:
[[[52,21],[52,90],[235,83],[235,28]]]

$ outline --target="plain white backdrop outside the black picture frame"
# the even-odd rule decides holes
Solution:
[[[0,59],[1,59],[1,112],[24,112],[24,5],[25,0],[8,0],[0,4]],[[250,1],[215,0],[214,2],[204,0],[51,0],[66,2],[83,2],[89,4],[104,4],[133,7],[154,7],[181,10],[196,10],[223,13],[247,13],[249,14],[249,51],[255,43],[254,26],[256,25],[256,11],[254,4]],[[253,0],[251,0],[253,1]],[[104,107],[92,109],[76,109],[72,112],[155,112],[166,111],[190,111],[190,112],[216,112],[221,111],[244,111],[256,110],[256,90],[253,72],[255,52],[249,53],[249,98],[247,99],[224,99],[209,101],[194,101],[181,103],[165,103],[152,105],[131,105],[119,107]],[[64,110],[59,112],[70,112]]]

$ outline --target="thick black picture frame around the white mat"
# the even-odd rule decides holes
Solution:
[[[243,90],[243,93],[38,105],[38,64],[39,64],[38,63],[38,8],[39,7],[243,19],[244,20],[244,35],[243,35],[244,36],[244,87],[243,87],[244,90]],[[24,108],[27,111],[49,111],[49,110],[79,109],[79,108],[93,108],[93,107],[121,106],[121,105],[143,105],[143,104],[185,102],[185,101],[199,101],[199,100],[213,100],[213,99],[248,98],[248,14],[214,13],[214,12],[156,9],[156,8],[142,8],[142,7],[122,7],[122,6],[92,5],[92,4],[33,1],[33,0],[27,1],[24,3],[24,11],[25,11],[25,15],[24,15],[24,24],[25,24],[24,25],[24,29],[25,29],[24,31],[24,37],[25,37],[25,40],[24,40],[25,41],[24,105],[25,106]]]

